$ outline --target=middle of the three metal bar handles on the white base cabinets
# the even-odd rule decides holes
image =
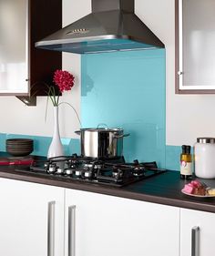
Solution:
[[[76,205],[68,207],[68,256],[76,255]]]

